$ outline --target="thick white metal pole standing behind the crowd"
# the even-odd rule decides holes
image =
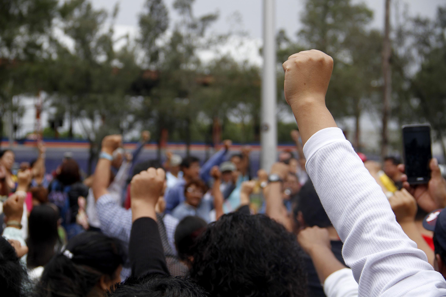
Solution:
[[[275,0],[263,0],[263,75],[261,108],[261,167],[267,171],[277,159],[277,86]]]

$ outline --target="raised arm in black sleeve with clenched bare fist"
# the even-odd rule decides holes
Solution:
[[[134,277],[148,273],[169,275],[155,213],[164,183],[161,168],[142,171],[131,182],[133,225],[128,251]]]

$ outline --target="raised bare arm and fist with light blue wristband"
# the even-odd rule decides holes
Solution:
[[[121,146],[121,143],[121,135],[108,135],[102,140],[102,152],[111,156],[113,155],[113,151]],[[110,168],[111,159],[101,158],[98,160],[92,187],[93,195],[95,195],[96,200],[108,193],[107,188],[110,183]]]

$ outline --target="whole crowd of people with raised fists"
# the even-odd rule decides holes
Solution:
[[[109,135],[95,173],[0,154],[1,296],[446,296],[446,180],[356,153],[327,110],[333,60],[283,65],[299,131],[269,171],[225,140],[206,162],[139,160]]]

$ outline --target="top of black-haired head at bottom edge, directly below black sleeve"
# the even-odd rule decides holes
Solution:
[[[107,293],[107,297],[207,297],[208,294],[190,279],[148,274],[128,278]]]

